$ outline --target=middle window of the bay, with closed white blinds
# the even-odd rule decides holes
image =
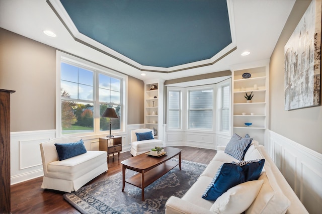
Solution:
[[[213,89],[188,92],[188,129],[212,129]]]

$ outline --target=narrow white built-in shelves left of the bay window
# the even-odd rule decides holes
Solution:
[[[155,85],[156,89],[151,89]],[[144,124],[145,128],[157,131],[156,139],[163,140],[163,81],[145,82]]]

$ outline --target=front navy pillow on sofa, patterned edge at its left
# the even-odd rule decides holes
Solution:
[[[243,168],[233,163],[224,163],[218,168],[217,173],[202,198],[216,200],[231,187],[245,182]]]

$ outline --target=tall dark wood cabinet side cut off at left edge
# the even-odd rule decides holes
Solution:
[[[11,213],[10,193],[10,94],[0,89],[0,213]]]

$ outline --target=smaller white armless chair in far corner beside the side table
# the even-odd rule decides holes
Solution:
[[[154,148],[155,146],[163,147],[163,141],[157,139],[151,140],[143,140],[137,141],[137,137],[135,133],[144,133],[144,132],[152,132],[152,129],[135,129],[131,131],[131,154],[133,156],[142,154],[144,152],[148,152],[150,149]]]

